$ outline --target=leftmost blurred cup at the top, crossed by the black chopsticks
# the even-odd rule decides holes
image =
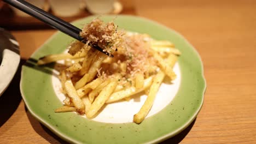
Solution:
[[[31,4],[35,5],[36,7],[40,8],[40,9],[43,9],[45,11],[48,11],[48,9],[49,9],[49,7],[45,8],[45,1],[44,0],[36,0],[36,1],[26,0],[26,2],[31,3]],[[19,9],[16,9],[12,6],[10,6],[10,7],[11,7],[11,9],[13,9],[13,11],[16,15],[21,16],[21,17],[30,17],[30,15],[24,13],[23,11],[21,11]]]

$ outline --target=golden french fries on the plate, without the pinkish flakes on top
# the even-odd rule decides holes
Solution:
[[[103,64],[117,63],[118,59],[110,58],[94,49],[82,49],[74,56],[69,53],[45,56],[39,59],[38,64],[65,60],[66,67],[60,71],[59,78],[66,99],[63,101],[64,106],[55,112],[77,111],[80,115],[85,114],[87,118],[94,118],[103,105],[127,100],[132,95],[144,91],[148,95],[147,100],[133,116],[133,122],[139,124],[148,115],[164,77],[168,76],[171,80],[176,78],[173,66],[181,55],[171,42],[153,39],[150,40],[150,52],[157,62],[157,73],[137,73],[131,77],[131,81],[124,84],[120,84],[119,81],[123,77],[118,73],[105,79],[98,75]],[[115,67],[126,70],[122,63],[116,64]],[[72,77],[73,74],[80,77]]]

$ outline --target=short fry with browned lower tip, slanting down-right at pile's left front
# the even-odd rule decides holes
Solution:
[[[78,97],[77,91],[75,91],[75,88],[73,86],[73,83],[71,80],[67,80],[65,82],[65,89],[67,91],[67,94],[74,104],[75,109],[78,111],[80,115],[84,114],[85,112],[85,106],[83,101]]]

